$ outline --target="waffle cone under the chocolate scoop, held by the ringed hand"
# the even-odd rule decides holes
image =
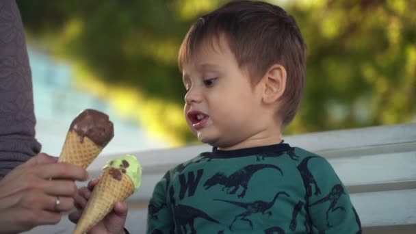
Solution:
[[[90,138],[84,137],[83,142],[80,142],[75,131],[68,131],[58,161],[86,169],[102,150],[103,147],[97,146]]]

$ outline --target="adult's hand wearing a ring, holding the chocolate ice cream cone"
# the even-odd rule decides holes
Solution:
[[[75,181],[86,179],[83,168],[57,164],[57,158],[44,153],[14,168],[0,181],[0,233],[60,222],[61,213],[75,205]]]

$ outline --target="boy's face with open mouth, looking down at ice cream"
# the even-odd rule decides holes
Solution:
[[[261,131],[261,89],[252,86],[223,36],[202,43],[182,72],[184,114],[198,140],[223,149],[255,140]]]

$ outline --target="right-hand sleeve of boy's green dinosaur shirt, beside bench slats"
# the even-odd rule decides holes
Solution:
[[[328,161],[315,157],[309,162],[309,171],[309,215],[315,229],[312,233],[361,233],[359,216],[346,187]]]

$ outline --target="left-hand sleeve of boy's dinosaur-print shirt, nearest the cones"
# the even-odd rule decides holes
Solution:
[[[148,205],[147,232],[148,234],[168,234],[174,229],[172,211],[168,205],[168,184],[170,172],[167,172],[153,190],[153,196]]]

